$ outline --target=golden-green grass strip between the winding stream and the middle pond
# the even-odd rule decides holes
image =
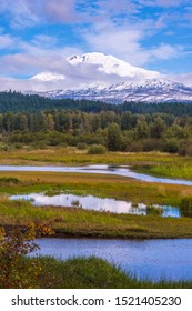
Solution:
[[[18,179],[11,182],[10,179]],[[146,204],[179,205],[185,197],[192,195],[192,187],[148,183],[134,179],[79,173],[54,172],[1,172],[0,194],[30,192],[73,191]]]

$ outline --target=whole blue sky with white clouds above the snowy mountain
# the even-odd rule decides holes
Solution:
[[[191,0],[1,0],[1,89],[93,51],[192,81],[191,30]]]

